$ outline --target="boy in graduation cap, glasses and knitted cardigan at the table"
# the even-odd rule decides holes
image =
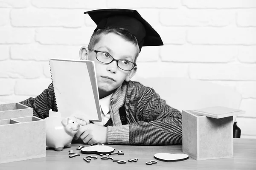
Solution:
[[[80,59],[95,61],[102,122],[82,125],[75,138],[85,144],[163,145],[180,144],[182,116],[152,89],[130,81],[137,71],[142,46],[163,45],[157,32],[135,10],[102,9],[85,12],[97,24]],[[57,111],[53,85],[35,99],[23,102],[35,116]]]

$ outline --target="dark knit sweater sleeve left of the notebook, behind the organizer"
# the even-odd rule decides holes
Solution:
[[[51,83],[47,89],[45,89],[35,98],[30,97],[29,99],[26,99],[20,103],[33,108],[33,116],[39,117],[41,119],[48,117],[50,109],[52,109],[52,111],[57,111],[53,84]]]

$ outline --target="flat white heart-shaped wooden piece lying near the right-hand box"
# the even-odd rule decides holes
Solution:
[[[156,153],[154,154],[154,158],[160,161],[183,161],[186,159],[189,159],[189,156],[184,153],[176,153],[176,154],[171,154],[171,153]]]

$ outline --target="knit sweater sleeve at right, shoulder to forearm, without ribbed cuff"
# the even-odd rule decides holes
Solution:
[[[134,88],[127,94],[129,143],[132,145],[171,145],[182,143],[182,114],[170,107],[152,89],[144,87],[140,92]],[[140,90],[141,91],[141,90]],[[132,117],[134,117],[132,119]]]

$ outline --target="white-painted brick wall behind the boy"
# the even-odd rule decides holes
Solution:
[[[143,47],[137,77],[186,77],[242,95],[243,138],[256,138],[256,0],[1,0],[0,103],[48,87],[48,58],[79,59],[95,23],[84,11],[134,8],[164,46]]]

